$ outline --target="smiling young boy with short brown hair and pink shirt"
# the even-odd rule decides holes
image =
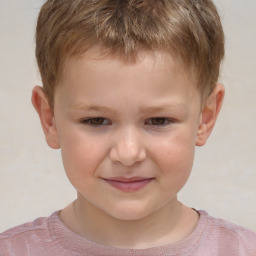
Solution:
[[[32,103],[77,199],[0,235],[0,255],[256,255],[256,235],[180,203],[224,96],[211,0],[48,0]]]

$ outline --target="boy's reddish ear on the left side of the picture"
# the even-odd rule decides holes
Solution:
[[[54,114],[42,87],[33,89],[31,101],[39,115],[47,144],[54,149],[60,148]]]

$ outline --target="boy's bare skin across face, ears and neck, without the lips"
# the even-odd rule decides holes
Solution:
[[[60,148],[76,201],[60,218],[73,232],[115,247],[148,248],[177,242],[198,223],[177,193],[221,108],[216,85],[201,93],[170,54],[139,54],[136,62],[100,58],[91,49],[68,58],[54,111],[41,87],[32,102],[48,145]],[[53,114],[54,113],[54,114]],[[142,188],[123,191],[113,177],[143,177]],[[111,232],[110,232],[111,231]]]

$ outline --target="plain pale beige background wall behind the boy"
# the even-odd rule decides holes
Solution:
[[[60,151],[47,147],[31,90],[41,84],[34,28],[42,0],[0,0],[0,231],[75,198]],[[215,1],[226,33],[226,98],[180,199],[256,231],[256,1]]]

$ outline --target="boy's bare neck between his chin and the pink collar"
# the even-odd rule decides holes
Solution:
[[[60,217],[68,228],[90,241],[133,249],[178,242],[189,235],[198,222],[198,214],[177,198],[143,219],[120,220],[78,196]]]

